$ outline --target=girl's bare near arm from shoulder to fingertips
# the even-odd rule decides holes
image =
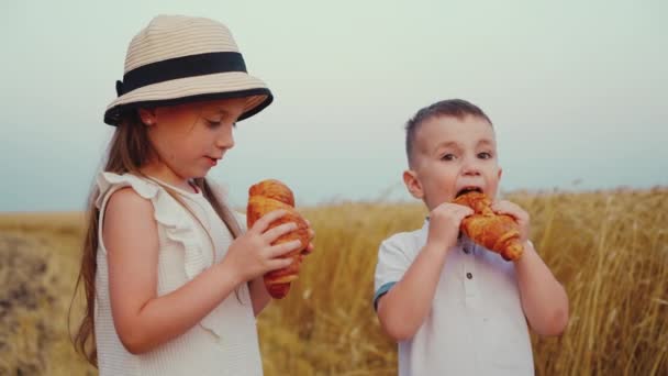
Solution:
[[[158,235],[153,204],[130,188],[113,193],[102,232],[114,325],[127,351],[144,353],[185,333],[240,284],[288,266],[289,258],[277,257],[297,248],[299,242],[277,246],[270,243],[293,230],[294,224],[265,232],[271,221],[283,214],[276,211],[265,215],[232,243],[220,264],[157,297]]]

